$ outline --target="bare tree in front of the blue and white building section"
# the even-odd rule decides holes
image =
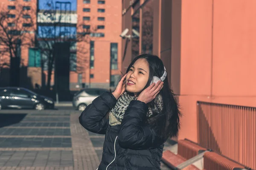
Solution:
[[[82,18],[78,18],[78,23],[73,24],[73,27],[74,25],[75,27],[72,29],[68,27],[69,23],[67,23],[67,19],[72,16],[75,16],[75,14],[63,14],[61,11],[53,9],[53,7],[48,10],[41,10],[38,12],[38,23],[41,24],[37,30],[36,40],[38,48],[40,48],[42,52],[42,70],[47,69],[47,90],[50,89],[51,85],[52,71],[54,70],[56,57],[54,54],[54,48],[57,42],[70,42],[70,69],[72,71],[81,74],[84,72],[88,63],[88,59],[85,55],[88,54],[89,49],[86,46],[78,45],[78,43],[90,43],[90,34],[96,32],[96,28],[88,26],[86,21]],[[66,26],[67,29],[65,29]],[[70,23],[70,26],[72,26],[72,23]],[[64,29],[61,30],[62,27]],[[72,63],[74,64],[72,65]]]

